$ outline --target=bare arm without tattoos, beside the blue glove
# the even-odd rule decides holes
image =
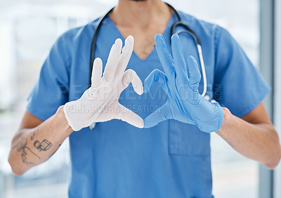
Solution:
[[[242,119],[225,107],[223,112],[223,124],[216,133],[245,157],[274,169],[280,161],[281,147],[263,103]]]

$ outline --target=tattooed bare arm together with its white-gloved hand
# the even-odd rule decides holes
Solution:
[[[133,126],[143,128],[143,119],[118,101],[119,95],[129,84],[133,85],[133,89],[139,95],[143,93],[143,84],[136,72],[126,70],[132,52],[133,37],[129,36],[126,39],[123,49],[122,40],[116,39],[110,49],[105,72],[102,60],[100,58],[94,60],[91,87],[80,99],[65,103],[44,122],[25,112],[20,129],[13,138],[8,157],[13,173],[20,175],[32,166],[46,161],[58,150],[65,138],[70,136],[72,128],[79,131],[93,122],[111,119],[122,119]],[[108,91],[108,88],[111,91]]]

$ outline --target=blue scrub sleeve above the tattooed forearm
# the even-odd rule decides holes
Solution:
[[[70,56],[63,34],[53,44],[37,83],[27,98],[27,111],[41,120],[55,114],[68,100]]]

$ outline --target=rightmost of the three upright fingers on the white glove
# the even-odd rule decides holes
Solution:
[[[126,67],[131,58],[131,54],[133,53],[133,37],[130,35],[125,40],[125,46],[122,49],[122,54],[120,55],[120,59],[117,65],[117,70],[115,72],[115,77],[122,77],[122,74],[126,70]]]

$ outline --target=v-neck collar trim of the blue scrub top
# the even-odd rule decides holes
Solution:
[[[167,24],[166,24],[166,27],[165,27],[165,29],[164,29],[164,32],[162,32],[162,35],[163,35],[163,37],[164,38],[167,38],[166,36],[168,36],[168,38],[170,38],[171,37],[171,35],[169,35],[169,34],[171,34],[170,32],[170,29],[171,29],[171,26],[172,26],[172,24],[174,23],[173,21],[174,21],[174,17],[175,17],[175,13],[173,13],[172,15],[171,15],[171,17],[169,18],[169,21],[167,22]],[[125,41],[125,38],[123,37],[123,34],[119,31],[119,29],[117,28],[117,25],[115,25],[115,22],[113,22],[112,21],[112,19],[110,18],[110,16],[107,16],[107,20],[109,20],[109,22],[112,24],[112,26],[115,28],[115,31],[117,32],[117,34],[118,34],[118,37],[120,38],[120,39],[122,39],[122,41]],[[166,41],[167,42],[167,41]],[[145,57],[145,59],[141,59],[136,53],[135,53],[135,51],[133,51],[133,53],[132,53],[132,55],[134,55],[134,56],[136,56],[136,58],[137,58],[137,60],[139,60],[139,61],[141,61],[141,62],[145,62],[146,60],[148,60],[149,58],[150,58],[150,56],[153,54],[153,53],[155,53],[155,51],[156,51],[156,48],[155,48],[155,46],[152,48],[152,51],[150,51],[150,53]]]

